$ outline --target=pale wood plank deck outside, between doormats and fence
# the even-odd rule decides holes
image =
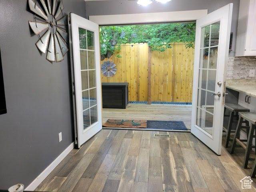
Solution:
[[[183,121],[190,129],[191,109],[192,106],[128,104],[126,109],[103,109],[102,122],[108,119]]]

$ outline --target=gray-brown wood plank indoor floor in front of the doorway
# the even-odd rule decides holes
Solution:
[[[187,132],[101,130],[36,188],[50,192],[237,192],[244,150],[217,156]],[[253,156],[252,156],[253,157]],[[252,165],[250,161],[249,167]],[[253,179],[254,186],[256,180]]]

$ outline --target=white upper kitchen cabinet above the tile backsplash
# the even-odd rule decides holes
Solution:
[[[240,0],[236,56],[256,56],[256,0]]]

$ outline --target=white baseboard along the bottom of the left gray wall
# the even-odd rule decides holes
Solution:
[[[38,185],[54,170],[54,168],[69,154],[74,148],[74,142],[70,144],[32,183],[27,186],[26,191],[34,191]]]

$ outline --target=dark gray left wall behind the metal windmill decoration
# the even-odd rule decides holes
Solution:
[[[84,0],[63,0],[85,17]],[[0,0],[0,48],[7,114],[0,115],[0,189],[32,182],[73,141],[68,54],[51,64],[30,32],[27,0]],[[62,142],[58,133],[62,132]]]

